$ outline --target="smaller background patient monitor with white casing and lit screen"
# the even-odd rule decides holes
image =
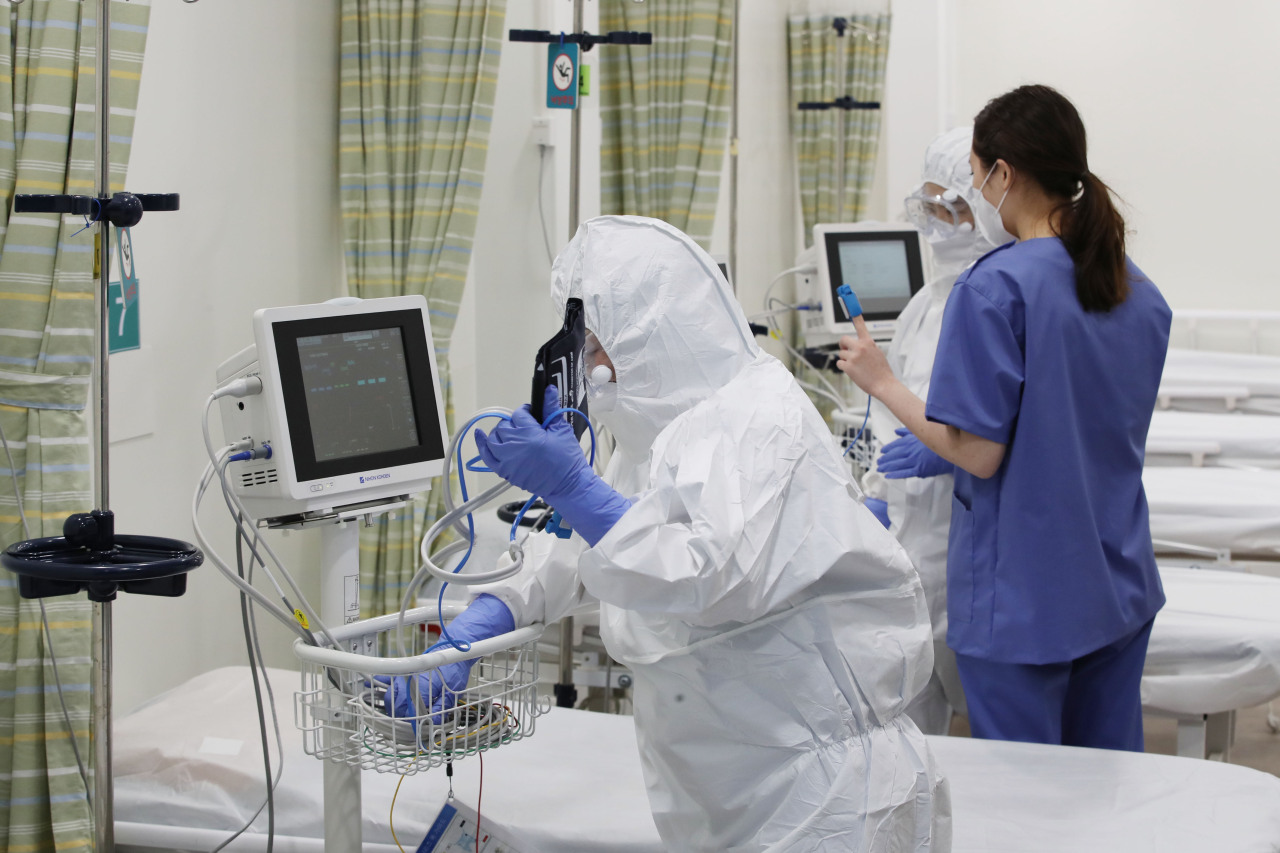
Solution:
[[[797,259],[796,301],[805,345],[822,347],[854,334],[852,318],[837,291],[858,295],[872,337],[888,341],[902,313],[925,282],[927,252],[920,233],[901,223],[819,224],[813,246]]]

